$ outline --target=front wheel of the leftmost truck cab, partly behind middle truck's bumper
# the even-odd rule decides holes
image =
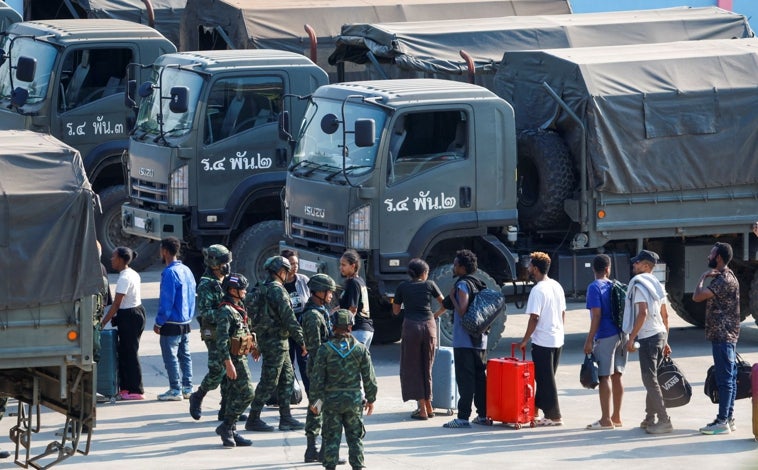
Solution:
[[[100,260],[105,267],[111,269],[111,253],[119,246],[127,246],[137,252],[138,256],[129,265],[135,271],[142,271],[152,265],[158,259],[159,244],[147,238],[127,235],[121,229],[121,205],[126,202],[124,185],[106,188],[99,196],[103,213],[95,211],[95,231],[97,239],[103,245]]]

